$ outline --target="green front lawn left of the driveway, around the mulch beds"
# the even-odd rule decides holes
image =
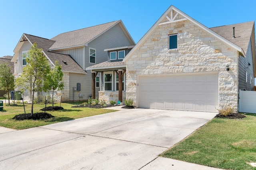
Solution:
[[[24,120],[24,121],[16,121],[12,119],[15,115],[23,114],[24,108],[23,105],[5,105],[4,104],[4,110],[0,111],[0,126],[7,127],[7,128],[13,128],[13,129],[26,129],[26,128],[32,128],[32,127],[38,127],[43,125],[49,125],[53,123],[63,122],[63,121],[70,121],[73,119],[78,119],[82,117],[89,117],[94,115],[101,115],[104,113],[110,113],[114,112],[116,110],[109,110],[109,109],[92,109],[92,108],[72,108],[72,106],[76,105],[78,103],[62,103],[61,107],[64,108],[64,110],[60,111],[46,111],[47,113],[50,113],[54,116],[54,118],[51,119],[42,119],[42,120]],[[43,112],[40,111],[40,109],[44,108],[44,104],[35,104],[34,105],[34,113],[37,112]],[[51,105],[47,105],[51,106]],[[59,104],[54,105],[59,106]],[[25,106],[26,113],[31,113],[31,105],[27,104]]]

